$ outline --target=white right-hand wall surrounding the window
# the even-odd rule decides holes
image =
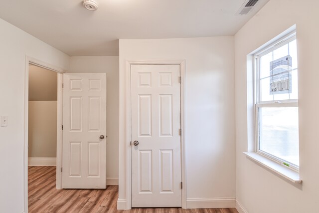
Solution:
[[[235,35],[236,198],[248,213],[318,211],[319,192],[319,1],[270,0]],[[247,159],[252,140],[251,76],[247,55],[297,24],[299,66],[300,177],[293,184]],[[247,119],[247,117],[249,119]]]

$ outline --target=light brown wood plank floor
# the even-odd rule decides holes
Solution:
[[[116,210],[118,186],[106,190],[57,190],[55,167],[28,167],[28,173],[29,213],[238,213],[236,209]]]

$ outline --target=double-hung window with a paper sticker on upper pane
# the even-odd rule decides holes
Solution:
[[[296,32],[254,55],[256,152],[299,171]]]

